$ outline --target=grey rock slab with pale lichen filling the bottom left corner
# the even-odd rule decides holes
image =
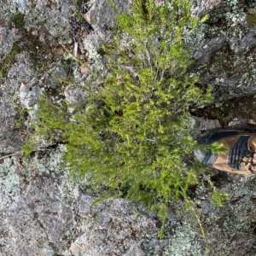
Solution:
[[[3,255],[54,255],[75,224],[75,212],[58,188],[60,151],[48,157],[47,161],[38,155],[21,161],[16,156],[0,164]]]

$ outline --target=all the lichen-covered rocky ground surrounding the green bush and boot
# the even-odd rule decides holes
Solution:
[[[115,2],[124,11],[131,5]],[[186,38],[194,49],[190,72],[201,76],[201,86],[212,86],[215,96],[212,106],[193,113],[197,131],[255,131],[256,5],[191,3],[195,15],[210,13],[210,19]],[[61,165],[64,145],[23,159],[20,146],[31,132],[38,97],[83,102],[86,93],[69,79],[91,79],[87,64],[104,72],[97,50],[110,34],[113,12],[106,0],[0,0],[0,6],[0,255],[256,254],[255,177],[201,170],[201,183],[189,191],[195,205],[185,211],[183,201],[170,202],[166,236],[159,240],[160,219],[146,210],[138,214],[132,202],[93,205],[90,183],[71,180]],[[229,193],[223,207],[212,207],[207,178]]]

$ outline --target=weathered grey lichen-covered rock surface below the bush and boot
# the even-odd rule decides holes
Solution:
[[[92,205],[60,169],[64,147],[3,160],[1,176],[1,255],[253,255],[255,177],[219,173],[216,184],[230,194],[212,207],[204,177],[191,196],[207,234],[205,243],[194,213],[171,204],[166,237],[157,239],[160,220],[131,202],[116,199]]]

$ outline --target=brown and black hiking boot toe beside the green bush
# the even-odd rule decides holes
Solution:
[[[211,131],[199,139],[200,145],[223,143],[228,148],[225,154],[212,154],[195,150],[196,158],[205,166],[224,172],[256,174],[256,133],[244,131]]]

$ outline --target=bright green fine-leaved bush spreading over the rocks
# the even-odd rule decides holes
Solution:
[[[26,153],[38,147],[35,137],[57,135],[67,143],[73,176],[105,186],[108,197],[142,203],[165,223],[168,202],[186,198],[189,184],[197,183],[196,162],[184,162],[198,148],[189,111],[212,101],[211,90],[187,73],[183,36],[200,23],[190,8],[189,0],[134,0],[131,14],[117,15],[113,38],[102,46],[108,75],[85,86],[86,107],[76,108],[70,121],[66,108],[40,101]]]

